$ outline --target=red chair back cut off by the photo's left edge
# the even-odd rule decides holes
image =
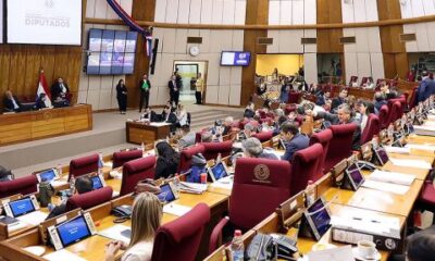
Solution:
[[[28,195],[36,192],[38,178],[36,175],[18,177],[13,181],[0,182],[0,198],[5,198],[15,194]]]

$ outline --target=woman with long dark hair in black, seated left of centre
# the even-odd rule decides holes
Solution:
[[[160,177],[167,178],[176,173],[179,163],[179,154],[166,141],[160,141],[156,145],[156,174],[154,179]]]

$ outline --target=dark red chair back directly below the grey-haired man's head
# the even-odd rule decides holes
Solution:
[[[357,124],[332,125],[333,138],[327,148],[324,172],[328,172],[343,159],[348,158],[352,153],[353,133],[357,130]]]

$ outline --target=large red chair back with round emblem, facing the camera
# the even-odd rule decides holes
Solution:
[[[237,159],[229,220],[238,228],[252,228],[290,197],[290,163],[287,161]]]

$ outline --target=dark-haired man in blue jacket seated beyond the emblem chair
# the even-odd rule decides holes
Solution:
[[[299,128],[295,123],[285,122],[281,126],[281,138],[286,145],[286,151],[281,158],[285,161],[291,161],[296,151],[304,149],[309,146],[310,139],[299,133]]]

